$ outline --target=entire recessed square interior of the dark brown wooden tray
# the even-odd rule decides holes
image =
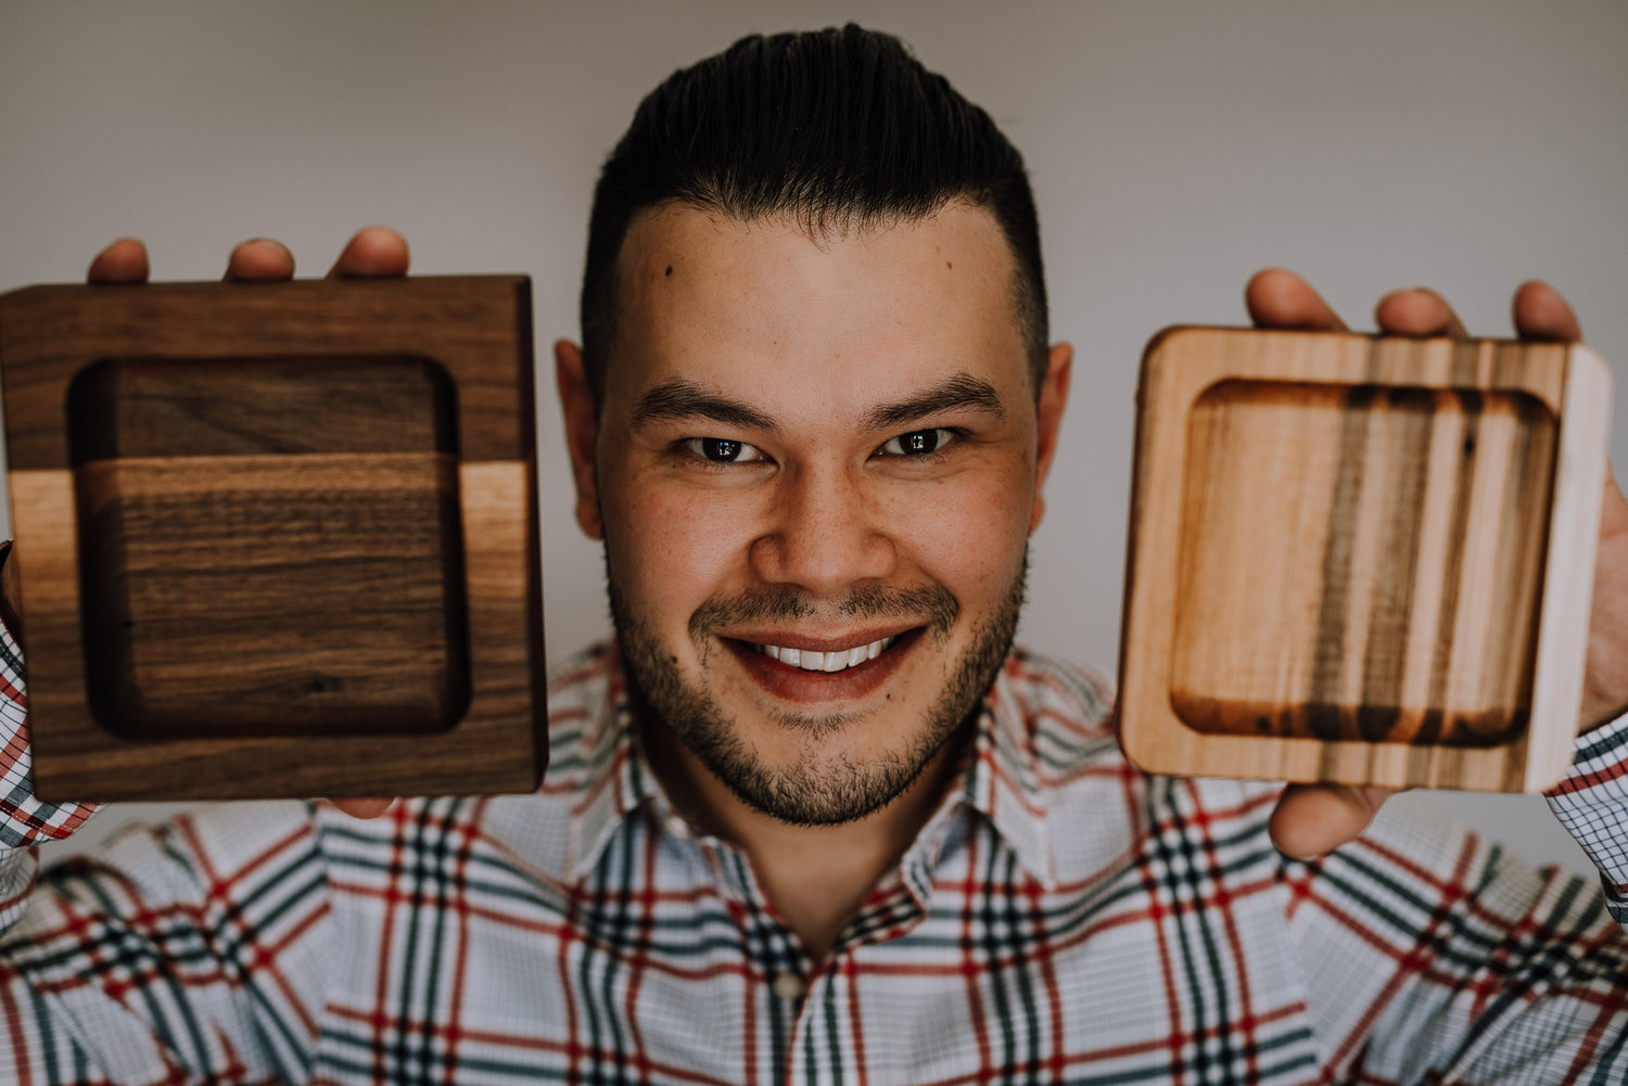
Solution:
[[[457,404],[436,361],[107,358],[67,414],[103,728],[430,733],[464,715]]]

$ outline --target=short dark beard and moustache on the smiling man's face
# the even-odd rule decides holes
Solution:
[[[606,562],[610,617],[622,648],[630,695],[641,723],[666,726],[736,796],[751,808],[793,825],[838,825],[873,814],[904,795],[970,723],[1011,653],[1022,611],[1024,555],[993,612],[982,617],[961,656],[949,663],[938,695],[923,707],[920,721],[894,751],[858,759],[850,751],[822,749],[843,728],[856,723],[840,713],[775,713],[775,723],[801,734],[803,755],[788,765],[765,762],[742,738],[741,728],[702,685],[687,682],[679,659],[663,648],[654,630],[633,615]],[[757,589],[734,598],[715,598],[690,617],[689,632],[702,668],[715,642],[711,632],[726,624],[762,619],[812,619],[840,614],[845,619],[926,617],[918,637],[943,650],[961,607],[949,589],[856,589],[837,602],[819,606],[796,588]],[[897,646],[895,646],[897,648]],[[894,651],[892,648],[889,651]]]

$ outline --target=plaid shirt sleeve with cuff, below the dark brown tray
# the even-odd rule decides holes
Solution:
[[[334,961],[311,804],[138,829],[46,873],[98,804],[33,795],[0,622],[0,1083],[303,1083]]]

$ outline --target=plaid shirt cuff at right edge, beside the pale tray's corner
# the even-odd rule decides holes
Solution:
[[[1578,736],[1571,772],[1543,796],[1600,869],[1612,915],[1628,925],[1628,715]]]

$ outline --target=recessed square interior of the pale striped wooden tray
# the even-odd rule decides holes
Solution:
[[[1224,379],[1187,430],[1182,723],[1446,746],[1525,729],[1556,448],[1542,401]]]

